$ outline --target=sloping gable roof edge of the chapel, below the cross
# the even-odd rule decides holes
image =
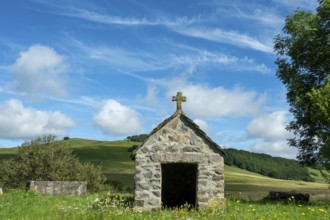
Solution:
[[[155,127],[146,137],[146,139],[144,140],[144,142],[138,146],[131,154],[131,159],[134,160],[135,159],[135,155],[136,153],[139,151],[140,148],[143,147],[143,145],[149,140],[150,137],[152,137],[157,131],[159,131],[160,129],[162,129],[165,125],[167,125],[170,121],[172,121],[174,118],[180,117],[183,120],[185,120],[188,123],[188,126],[190,128],[192,128],[199,136],[201,136],[202,138],[204,138],[208,143],[209,146],[213,147],[214,149],[216,149],[222,156],[226,156],[226,152],[214,141],[212,141],[212,139],[206,135],[206,133],[200,129],[200,127],[193,122],[193,120],[191,120],[189,117],[187,117],[182,110],[177,110],[172,116],[168,117],[167,119],[165,119],[163,122],[161,122],[157,127]]]

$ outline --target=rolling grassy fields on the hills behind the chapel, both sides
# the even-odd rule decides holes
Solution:
[[[137,142],[131,141],[95,141],[72,138],[67,140],[82,161],[90,161],[102,166],[110,181],[133,188],[134,161],[130,159],[128,149]],[[9,158],[17,152],[16,148],[0,148],[0,160]],[[245,197],[251,200],[261,199],[271,190],[297,191],[310,193],[311,199],[330,200],[330,190],[318,170],[314,173],[315,183],[273,179],[236,167],[225,166],[225,192],[227,196]]]

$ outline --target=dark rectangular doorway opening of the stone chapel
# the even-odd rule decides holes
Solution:
[[[175,208],[185,204],[196,206],[197,164],[162,164],[162,204]]]

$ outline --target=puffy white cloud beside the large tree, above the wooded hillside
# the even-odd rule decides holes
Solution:
[[[277,111],[269,115],[254,118],[247,126],[247,133],[254,138],[268,141],[285,140],[291,134],[285,129],[288,124],[288,113]]]

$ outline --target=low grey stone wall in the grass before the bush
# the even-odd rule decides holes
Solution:
[[[31,181],[30,190],[42,195],[85,195],[87,182],[79,181]]]

